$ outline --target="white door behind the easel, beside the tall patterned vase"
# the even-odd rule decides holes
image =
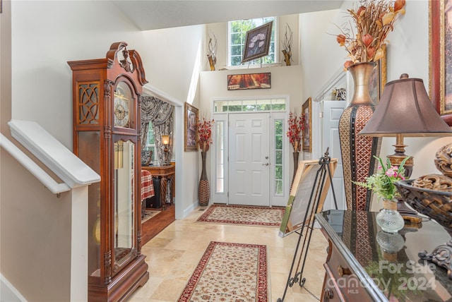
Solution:
[[[338,209],[340,210],[345,210],[347,208],[345,205],[344,174],[339,142],[339,119],[344,108],[345,101],[323,101],[322,145],[323,151],[329,147],[328,153],[330,157],[338,159],[338,166],[332,177],[336,202],[338,203]],[[325,203],[323,204],[323,210],[334,208],[334,198],[330,189],[326,196]]]

